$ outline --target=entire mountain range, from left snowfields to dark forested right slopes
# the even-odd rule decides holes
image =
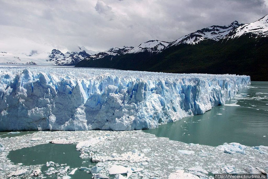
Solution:
[[[62,53],[32,50],[29,53],[0,52],[0,63],[30,65],[75,65],[122,70],[169,73],[235,73],[252,80],[268,81],[268,15],[247,24],[233,21],[210,26],[173,42],[149,40],[137,47],[113,47],[96,52],[77,47]]]

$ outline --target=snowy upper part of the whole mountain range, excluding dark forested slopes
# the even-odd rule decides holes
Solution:
[[[77,49],[73,51],[67,51],[62,53],[57,49],[53,49],[49,52],[39,52],[32,50],[27,53],[8,53],[0,52],[0,63],[10,63],[10,64],[37,64],[37,65],[76,65],[82,60],[90,61],[95,59],[102,59],[102,67],[107,62],[105,61],[107,56],[112,56],[106,60],[111,61],[116,56],[119,60],[121,56],[124,56],[122,60],[135,61],[134,59],[149,58],[152,55],[161,54],[165,49],[176,46],[179,44],[191,44],[195,45],[204,40],[211,40],[212,42],[217,42],[222,39],[233,39],[235,37],[240,37],[243,34],[252,34],[254,37],[267,37],[268,36],[268,15],[255,21],[253,23],[239,24],[237,21],[227,26],[210,26],[204,29],[197,30],[196,32],[190,33],[173,42],[165,42],[160,40],[149,40],[147,42],[141,43],[137,47],[124,46],[122,48],[113,47],[106,51],[91,51],[83,46],[77,46]],[[98,63],[94,61],[94,63]],[[84,65],[86,63],[83,63]],[[85,66],[92,66],[85,65]],[[109,64],[108,66],[110,66]],[[130,65],[130,64],[129,64]],[[83,65],[82,65],[83,66]],[[95,66],[95,65],[94,65]],[[98,65],[96,65],[98,66]],[[114,66],[116,68],[116,66]]]

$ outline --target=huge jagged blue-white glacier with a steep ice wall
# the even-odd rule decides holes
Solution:
[[[139,130],[223,105],[250,76],[0,67],[0,131]]]

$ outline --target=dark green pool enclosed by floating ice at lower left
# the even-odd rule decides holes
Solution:
[[[76,151],[76,145],[74,144],[42,144],[33,147],[22,148],[19,150],[10,151],[8,158],[15,164],[22,163],[23,165],[37,165],[44,164],[41,168],[42,174],[44,174],[49,167],[46,167],[46,162],[53,161],[58,164],[67,164],[70,168],[88,167],[95,166],[91,162],[91,159],[80,158],[80,152]],[[85,161],[83,163],[83,161]],[[54,167],[57,169],[56,167]],[[69,173],[70,171],[68,171]],[[44,175],[47,176],[47,175]],[[92,175],[85,171],[77,170],[74,175],[69,175],[73,179],[79,178],[91,178]],[[47,178],[57,178],[47,176]]]

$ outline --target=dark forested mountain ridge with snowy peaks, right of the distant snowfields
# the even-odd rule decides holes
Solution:
[[[266,81],[267,19],[268,15],[249,24],[234,21],[227,26],[210,26],[172,43],[151,40],[122,55],[82,60],[76,67],[168,73],[246,74],[254,80]],[[246,33],[254,34],[249,36],[254,38],[241,35]],[[224,38],[230,37],[239,38],[223,43]],[[200,42],[203,42],[202,45],[199,45]]]

